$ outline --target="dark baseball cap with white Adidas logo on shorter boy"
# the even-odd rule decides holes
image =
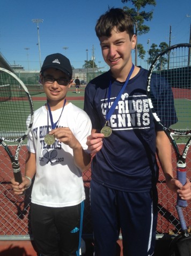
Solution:
[[[70,60],[61,53],[50,54],[45,58],[40,72],[43,73],[47,68],[57,68],[67,74],[69,78],[72,77]]]

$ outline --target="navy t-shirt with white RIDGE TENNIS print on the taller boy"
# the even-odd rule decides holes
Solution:
[[[109,188],[144,192],[158,180],[156,130],[146,96],[148,71],[141,68],[128,85],[109,119],[112,134],[103,139],[101,150],[92,161],[92,179]],[[85,89],[84,110],[92,128],[101,130],[106,123],[109,82],[112,80],[110,105],[123,82],[112,79],[108,71],[89,82]]]

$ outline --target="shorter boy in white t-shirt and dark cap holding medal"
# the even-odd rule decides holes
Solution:
[[[21,195],[35,176],[31,227],[40,255],[79,255],[85,199],[82,172],[90,168],[86,138],[91,121],[65,99],[73,81],[68,58],[60,53],[47,56],[40,79],[47,103],[34,112],[23,183],[12,179],[12,187]]]

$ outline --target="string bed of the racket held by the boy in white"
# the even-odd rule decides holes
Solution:
[[[26,120],[31,114],[28,94],[10,74],[0,73],[0,136],[19,138],[27,130]],[[30,117],[29,117],[30,119]]]

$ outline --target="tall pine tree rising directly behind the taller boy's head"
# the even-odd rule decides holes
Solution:
[[[149,26],[144,25],[144,21],[150,21],[153,16],[153,10],[149,12],[141,11],[141,8],[145,8],[146,5],[156,5],[155,0],[121,0],[122,3],[131,2],[135,8],[128,8],[124,6],[124,11],[126,11],[130,16],[134,18],[135,21],[135,34],[140,36],[141,34],[146,34],[149,32]],[[137,65],[137,44],[135,47],[135,65]]]

